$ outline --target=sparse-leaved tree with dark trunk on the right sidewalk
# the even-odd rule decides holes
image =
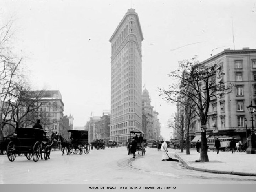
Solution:
[[[179,62],[178,69],[171,71],[169,77],[173,82],[168,89],[159,88],[160,96],[167,102],[181,103],[183,106],[191,106],[186,103],[189,100],[194,103],[191,109],[201,120],[202,154],[201,161],[208,162],[206,123],[209,103],[219,94],[229,94],[232,85],[223,82],[222,66],[214,61],[210,64],[200,64],[196,57],[191,60]],[[218,80],[218,82],[216,82]],[[179,96],[179,99],[178,99]]]

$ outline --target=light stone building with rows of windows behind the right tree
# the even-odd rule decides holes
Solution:
[[[207,135],[227,135],[236,137],[243,143],[247,129],[251,129],[251,114],[246,106],[256,105],[256,49],[225,49],[217,55],[201,62],[201,65],[218,63],[223,75],[219,77],[225,85],[233,85],[230,94],[219,94],[210,101],[207,119]],[[215,79],[216,82],[217,79]],[[255,126],[254,114],[254,126]],[[190,124],[190,132],[201,137],[201,122],[195,118]],[[248,133],[248,132],[247,132]],[[197,136],[198,135],[198,136]],[[247,134],[248,136],[249,134]]]

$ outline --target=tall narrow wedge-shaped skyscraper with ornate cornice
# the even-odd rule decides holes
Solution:
[[[125,144],[131,130],[142,131],[143,34],[138,14],[129,9],[111,42],[110,140]]]

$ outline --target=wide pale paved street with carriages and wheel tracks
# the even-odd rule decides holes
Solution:
[[[176,150],[177,151],[177,150]],[[162,152],[146,148],[145,156],[128,156],[126,147],[90,150],[88,155],[61,155],[33,162],[0,156],[0,183],[256,183],[254,176],[213,174],[185,169],[181,162],[161,161]],[[169,156],[176,158],[175,150]]]

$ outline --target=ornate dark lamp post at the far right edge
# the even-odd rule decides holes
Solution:
[[[246,150],[246,154],[255,154],[256,152],[256,136],[254,134],[254,123],[253,123],[253,116],[252,116],[252,113],[255,112],[255,108],[256,106],[252,105],[252,101],[251,101],[251,105],[247,106],[249,113],[251,113],[252,131],[248,137],[248,142],[247,142],[248,148]],[[246,132],[246,135],[247,135],[247,132]]]

